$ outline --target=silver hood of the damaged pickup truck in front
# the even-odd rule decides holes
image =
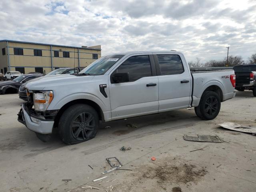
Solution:
[[[28,90],[52,90],[53,87],[61,87],[67,84],[77,84],[79,82],[89,82],[94,76],[74,76],[74,75],[53,75],[42,76],[25,83]]]

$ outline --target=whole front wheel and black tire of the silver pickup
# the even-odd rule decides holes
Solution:
[[[68,145],[90,140],[99,128],[98,113],[89,105],[75,104],[64,111],[58,128],[62,141]]]

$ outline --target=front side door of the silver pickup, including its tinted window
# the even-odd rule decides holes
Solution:
[[[115,73],[129,73],[130,81],[111,82]],[[158,77],[152,54],[135,54],[110,73],[112,120],[158,112]]]

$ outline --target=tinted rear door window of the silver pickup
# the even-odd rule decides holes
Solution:
[[[158,55],[161,75],[174,75],[184,72],[182,61],[178,55]]]

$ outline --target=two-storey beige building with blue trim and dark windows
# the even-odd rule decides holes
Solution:
[[[46,73],[62,67],[86,67],[101,57],[100,45],[72,47],[0,40],[0,72]]]

